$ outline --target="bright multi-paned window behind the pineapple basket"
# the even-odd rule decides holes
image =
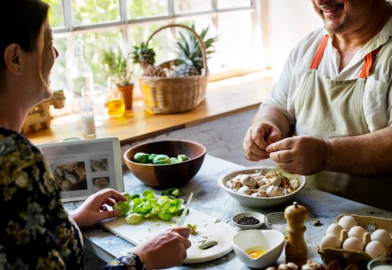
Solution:
[[[94,73],[94,83],[106,85],[102,48],[121,47],[124,54],[146,42],[151,33],[169,23],[195,25],[196,32],[209,27],[208,36],[218,36],[215,52],[208,59],[210,73],[241,68],[260,68],[262,48],[257,0],[44,0],[51,7],[49,22],[60,56],[51,72],[52,90],[69,92],[69,69],[77,39],[84,41],[84,55]],[[175,58],[176,37],[183,29],[167,29],[150,41],[156,63]],[[140,67],[133,69],[135,94]],[[139,93],[140,95],[140,93]]]

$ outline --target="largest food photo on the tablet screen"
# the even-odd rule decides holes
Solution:
[[[87,189],[86,169],[83,161],[54,164],[51,169],[54,180],[61,191]]]

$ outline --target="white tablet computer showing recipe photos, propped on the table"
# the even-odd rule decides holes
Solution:
[[[62,202],[82,201],[104,188],[124,191],[118,138],[67,140],[36,146],[49,162]]]

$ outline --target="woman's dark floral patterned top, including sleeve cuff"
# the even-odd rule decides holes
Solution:
[[[48,162],[0,127],[0,269],[83,269],[83,238],[63,208]],[[104,269],[144,269],[129,253]]]

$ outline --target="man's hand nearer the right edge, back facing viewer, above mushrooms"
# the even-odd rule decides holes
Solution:
[[[311,175],[325,167],[327,141],[314,136],[294,136],[270,144],[266,151],[284,171]]]

